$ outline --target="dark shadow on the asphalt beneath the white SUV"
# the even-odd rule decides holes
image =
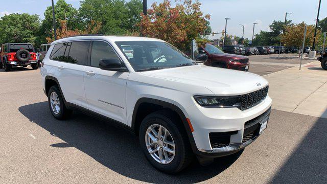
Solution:
[[[206,167],[195,161],[178,175],[167,175],[149,164],[139,148],[138,139],[124,129],[77,111],[74,111],[69,120],[58,121],[53,118],[46,101],[21,106],[18,110],[31,123],[37,124],[63,141],[50,146],[58,149],[75,147],[114,172],[139,181],[151,183],[204,181],[223,172],[243,152],[216,158],[212,165]]]

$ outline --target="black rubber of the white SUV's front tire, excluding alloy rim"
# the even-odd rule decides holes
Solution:
[[[158,117],[158,116],[151,116],[151,115],[152,114],[150,114],[143,120],[140,130],[139,130],[139,142],[142,147],[142,150],[144,151],[146,158],[149,160],[149,162],[155,168],[157,168],[160,171],[164,171],[166,173],[175,173],[175,171],[181,167],[180,164],[183,159],[183,152],[185,151],[185,150],[183,150],[184,146],[182,143],[182,137],[180,136],[180,133],[179,133],[177,127],[172,125],[173,122],[171,122],[171,120],[169,120],[166,117]],[[174,159],[172,160],[172,162],[169,164],[158,163],[156,160],[154,160],[152,158],[152,156],[150,155],[150,153],[146,147],[145,133],[147,132],[147,129],[153,124],[158,124],[158,125],[164,126],[170,132],[170,134],[174,140],[175,156],[174,156]]]

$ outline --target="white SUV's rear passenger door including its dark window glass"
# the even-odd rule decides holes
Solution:
[[[84,90],[84,68],[90,41],[58,43],[50,59],[56,60],[54,70],[66,102],[87,108]]]

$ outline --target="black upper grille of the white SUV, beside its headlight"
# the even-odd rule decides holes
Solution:
[[[262,102],[268,94],[268,85],[252,93],[241,95],[241,110],[251,108]]]

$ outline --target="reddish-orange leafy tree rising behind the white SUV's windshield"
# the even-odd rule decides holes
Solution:
[[[171,8],[170,0],[152,4],[148,15],[141,13],[142,35],[172,43],[180,50],[190,50],[192,39],[200,38],[207,29],[209,15],[203,15],[198,1],[184,0]]]

